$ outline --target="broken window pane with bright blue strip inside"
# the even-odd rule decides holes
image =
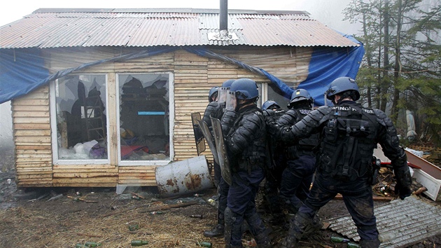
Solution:
[[[120,160],[170,160],[169,75],[118,74],[118,85]]]

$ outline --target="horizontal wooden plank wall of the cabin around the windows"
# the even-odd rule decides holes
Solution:
[[[77,67],[83,62],[92,62],[122,54],[137,53],[139,48],[54,48],[45,50],[46,62],[51,73],[64,68]],[[274,76],[290,82],[291,87],[307,76],[311,48],[222,48],[215,53],[231,57],[253,67],[265,69]],[[85,57],[84,55],[87,54]],[[87,60],[87,61],[85,61]],[[237,64],[202,57],[185,50],[176,50],[150,57],[139,57],[130,61],[118,61],[87,67],[78,73],[167,73],[173,74],[174,85],[174,159],[185,160],[197,156],[193,123],[190,114],[203,115],[207,107],[209,89],[220,86],[228,79],[252,78],[258,82],[269,79]],[[112,78],[112,76],[109,76]],[[116,81],[110,81],[114,86]],[[109,93],[110,94],[110,93]],[[24,186],[116,186],[116,184],[155,186],[154,166],[112,165],[52,165],[50,101],[47,85],[30,94],[13,100],[14,142],[19,184]],[[116,101],[109,96],[108,100]],[[112,105],[109,105],[112,106]],[[115,108],[110,108],[116,116]],[[113,117],[115,118],[115,117]],[[111,128],[116,132],[118,127]],[[118,147],[109,146],[113,154]],[[212,163],[209,147],[202,154]],[[118,163],[118,160],[112,160]],[[53,181],[52,181],[53,180]]]

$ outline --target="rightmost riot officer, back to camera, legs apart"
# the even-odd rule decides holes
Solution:
[[[320,156],[314,184],[304,205],[290,221],[282,247],[296,247],[311,228],[318,209],[343,195],[346,208],[357,226],[361,247],[379,247],[377,223],[372,200],[372,154],[377,143],[391,160],[397,180],[395,187],[404,200],[412,184],[405,151],[399,146],[392,121],[379,109],[367,109],[355,101],[360,98],[356,81],[341,77],[330,83],[328,99],[335,106],[321,106],[295,125],[271,132],[284,142],[294,142],[311,132],[322,132]]]

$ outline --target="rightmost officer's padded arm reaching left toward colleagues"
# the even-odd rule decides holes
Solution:
[[[321,106],[311,111],[302,120],[291,126],[279,126],[277,137],[284,144],[296,144],[299,139],[308,137],[313,132],[317,132],[321,125],[328,120],[331,109],[329,106]],[[277,127],[277,125],[275,125]],[[274,127],[271,127],[272,129]],[[272,131],[273,132],[273,131]]]

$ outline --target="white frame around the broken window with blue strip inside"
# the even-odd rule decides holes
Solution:
[[[120,134],[120,82],[119,75],[145,75],[145,74],[168,74],[169,75],[169,160],[121,160],[121,134]],[[174,75],[172,72],[137,72],[137,73],[116,73],[116,132],[118,137],[118,166],[141,166],[141,165],[167,165],[174,160]]]

